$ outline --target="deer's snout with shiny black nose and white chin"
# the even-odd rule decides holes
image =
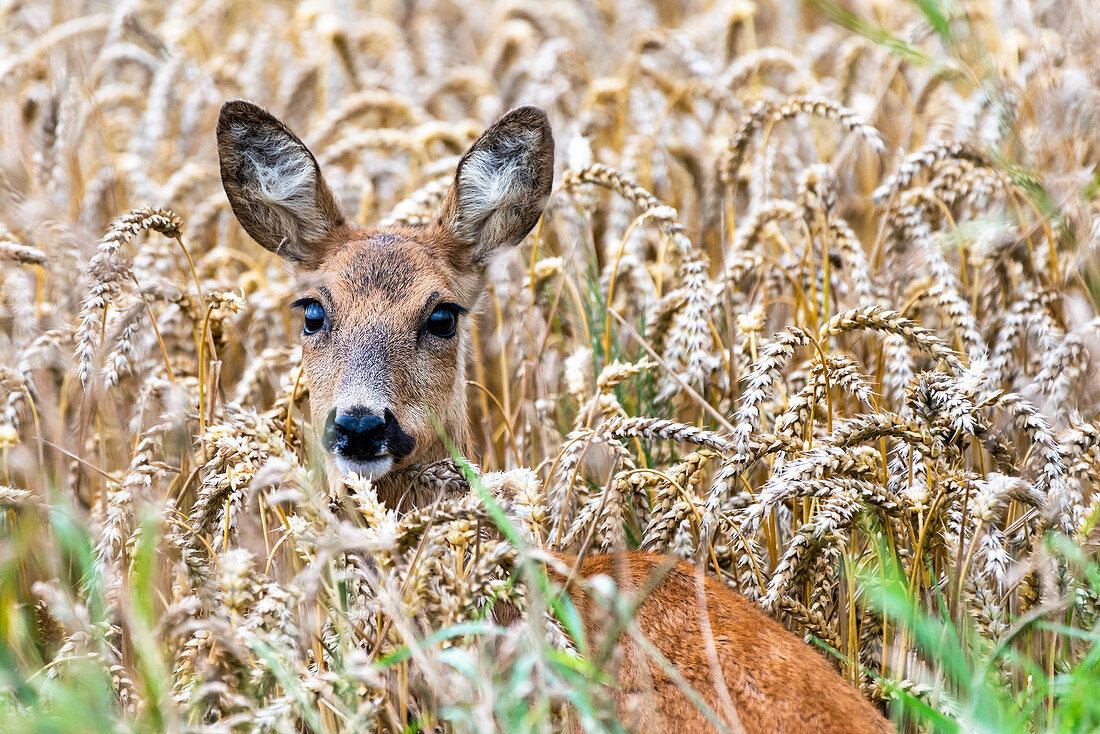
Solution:
[[[381,476],[408,456],[416,446],[389,408],[333,408],[324,421],[324,448],[337,465],[349,472]]]

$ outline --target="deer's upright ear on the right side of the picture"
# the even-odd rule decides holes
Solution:
[[[520,107],[482,133],[459,161],[440,210],[457,267],[483,266],[518,244],[539,220],[553,185],[553,134],[546,112]]]

